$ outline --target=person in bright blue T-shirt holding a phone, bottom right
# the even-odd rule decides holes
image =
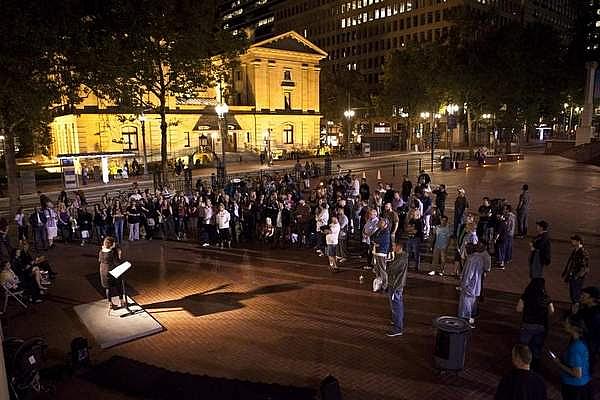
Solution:
[[[585,324],[581,318],[571,315],[565,320],[564,329],[571,337],[565,354],[559,358],[554,353],[548,352],[560,369],[562,398],[563,400],[591,400],[593,395],[590,386],[589,351],[582,339]]]

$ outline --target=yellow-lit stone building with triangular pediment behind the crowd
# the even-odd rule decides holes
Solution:
[[[214,153],[275,156],[314,152],[319,147],[320,61],[327,53],[296,32],[287,32],[253,44],[240,56],[227,90],[207,89],[196,98],[169,97],[167,151],[170,159],[211,161]],[[229,93],[222,99],[221,93]],[[229,112],[220,121],[216,105],[227,102]],[[227,125],[225,143],[220,123]],[[122,113],[92,92],[74,109],[64,110],[50,124],[51,156],[88,159],[98,164],[102,155],[113,157],[109,166],[124,162],[120,154],[142,160],[160,160],[160,118]]]

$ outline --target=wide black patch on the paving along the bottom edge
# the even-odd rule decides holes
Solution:
[[[99,386],[143,399],[309,400],[311,388],[256,383],[170,371],[113,356],[83,376]]]

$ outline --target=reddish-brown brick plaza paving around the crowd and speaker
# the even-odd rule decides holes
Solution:
[[[389,168],[381,173],[384,181],[400,186],[399,172],[395,177]],[[567,338],[559,316],[567,309],[568,295],[560,273],[573,232],[584,237],[590,251],[588,283],[600,284],[595,258],[600,254],[600,167],[534,154],[498,166],[436,172],[432,178],[434,184],[449,187],[450,215],[458,185],[466,188],[475,208],[486,195],[516,205],[521,185],[529,184],[530,232],[534,221],[544,218],[553,239],[547,281],[559,312],[547,344],[562,351]],[[376,182],[372,173],[368,179]],[[453,278],[410,273],[405,334],[388,338],[387,298],[371,292],[370,273],[364,273],[365,283],[359,282],[363,271],[355,268],[358,263],[332,275],[326,259],[310,249],[220,250],[183,241],[124,245],[124,258],[134,265],[128,277],[132,295],[166,331],[108,350],[95,346],[92,359],[99,363],[120,356],[194,375],[312,388],[332,374],[349,400],[489,399],[510,368],[510,349],[520,324],[515,306],[528,282],[528,249],[527,240],[516,240],[514,262],[486,279],[486,298],[472,331],[466,369],[457,376],[438,376],[432,359],[432,320],[456,314]],[[11,308],[4,322],[6,333],[45,337],[51,363],[64,363],[71,339],[91,338],[73,307],[102,297],[96,289],[97,253],[95,245],[58,244],[50,250],[60,275],[48,300],[25,311]],[[558,372],[548,360],[543,374],[550,398],[559,399]],[[63,379],[56,390],[57,399],[145,397],[82,376]]]

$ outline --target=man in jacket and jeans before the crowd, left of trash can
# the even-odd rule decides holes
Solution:
[[[388,295],[394,326],[387,336],[404,334],[404,287],[408,275],[408,255],[402,244],[394,244],[394,260],[388,265]]]

